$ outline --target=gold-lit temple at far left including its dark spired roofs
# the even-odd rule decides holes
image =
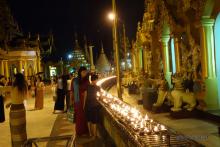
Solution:
[[[0,2],[0,74],[7,79],[17,72],[31,77],[43,72],[42,61],[54,49],[53,35],[24,35],[5,0]]]

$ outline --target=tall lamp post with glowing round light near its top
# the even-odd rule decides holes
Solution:
[[[120,76],[120,63],[119,63],[119,51],[118,51],[118,35],[117,35],[117,12],[115,0],[112,0],[113,13],[108,15],[109,19],[113,21],[113,48],[115,50],[115,62],[116,62],[116,76],[117,76],[117,92],[118,97],[122,99],[121,90],[121,76]]]

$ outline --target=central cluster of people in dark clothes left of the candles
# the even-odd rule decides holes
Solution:
[[[90,75],[85,67],[79,68],[77,77],[63,75],[57,79],[54,113],[64,113],[73,107],[78,136],[97,136],[96,124],[100,108],[96,99],[96,94],[100,90],[96,85],[97,80],[98,75]]]

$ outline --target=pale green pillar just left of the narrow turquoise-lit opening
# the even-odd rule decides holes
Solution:
[[[169,87],[172,87],[171,84],[171,70],[170,70],[170,55],[169,55],[169,40],[170,40],[170,35],[163,35],[161,37],[161,42],[162,42],[162,54],[163,54],[163,71],[166,80],[169,83]]]

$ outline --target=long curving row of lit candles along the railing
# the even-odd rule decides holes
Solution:
[[[102,83],[111,78],[114,77],[102,79],[97,85],[101,87]],[[140,135],[167,131],[167,128],[164,125],[153,121],[148,115],[143,116],[136,108],[133,108],[119,98],[112,96],[104,89],[101,89],[101,91],[97,93],[97,98],[108,106],[116,117],[123,120],[125,124],[128,124],[129,127]]]

